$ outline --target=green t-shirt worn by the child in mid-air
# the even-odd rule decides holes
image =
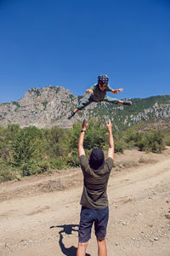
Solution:
[[[91,95],[90,98],[94,101],[94,102],[101,102],[104,100],[106,92],[107,91],[111,91],[111,86],[108,84],[107,88],[105,90],[100,90],[98,84],[94,84],[92,85],[92,87],[90,88],[91,90],[94,90],[94,95]]]

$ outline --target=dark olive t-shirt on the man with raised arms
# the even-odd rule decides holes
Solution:
[[[94,170],[89,166],[88,158],[83,154],[80,157],[83,173],[83,191],[80,204],[89,209],[102,209],[108,207],[107,183],[110,177],[113,160],[105,160],[102,170]]]

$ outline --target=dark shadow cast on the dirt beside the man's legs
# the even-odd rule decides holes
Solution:
[[[64,235],[71,235],[72,231],[78,232],[78,224],[64,224],[59,226],[51,226],[50,229],[60,228],[59,231],[59,247],[61,248],[61,252],[66,256],[76,256],[77,255],[77,247],[65,247],[63,243],[63,236]],[[91,256],[90,254],[86,253],[86,256]]]

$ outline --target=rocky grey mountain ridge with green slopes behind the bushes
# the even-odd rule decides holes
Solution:
[[[73,123],[92,117],[109,117],[116,129],[137,125],[141,121],[151,124],[151,127],[153,124],[166,127],[170,124],[170,95],[133,98],[131,107],[105,102],[92,103],[68,120],[71,110],[87,96],[75,96],[61,86],[31,88],[17,102],[0,103],[0,125],[35,125],[39,128],[58,125],[71,128]]]

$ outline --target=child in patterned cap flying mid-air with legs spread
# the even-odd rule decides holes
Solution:
[[[117,94],[121,89],[112,89],[108,84],[109,78],[106,75],[101,75],[98,77],[98,84],[94,84],[90,89],[86,90],[86,93],[91,93],[91,96],[88,96],[88,99],[85,102],[82,102],[80,105],[75,108],[73,112],[71,112],[68,116],[68,119],[71,119],[79,110],[87,107],[92,102],[108,102],[112,104],[123,104],[127,106],[131,106],[132,102],[122,102],[119,99],[111,98],[106,96],[107,91],[111,91],[114,94]]]

